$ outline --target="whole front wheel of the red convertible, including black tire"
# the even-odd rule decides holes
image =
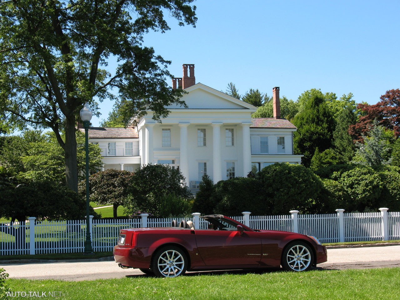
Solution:
[[[314,264],[312,248],[305,242],[289,243],[282,252],[282,268],[286,271],[307,271]]]

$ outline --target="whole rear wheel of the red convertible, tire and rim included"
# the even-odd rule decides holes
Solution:
[[[176,277],[186,272],[187,258],[184,251],[176,246],[158,249],[153,256],[152,270],[159,277]]]

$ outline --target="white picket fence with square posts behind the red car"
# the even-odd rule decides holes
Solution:
[[[344,213],[304,215],[297,210],[290,215],[232,217],[254,229],[283,230],[317,237],[322,243],[374,240],[400,240],[400,212]],[[191,218],[140,218],[104,220],[90,217],[90,236],[94,252],[111,251],[123,228],[167,227],[172,220],[191,220],[196,229],[206,229],[207,222],[200,213]],[[84,251],[86,220],[36,221],[35,217],[23,223],[0,223],[0,255],[73,253]]]

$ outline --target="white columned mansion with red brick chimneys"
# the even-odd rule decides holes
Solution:
[[[103,170],[168,164],[195,188],[204,174],[216,183],[275,162],[300,164],[302,156],[293,154],[296,127],[280,118],[278,87],[272,89],[274,118],[252,118],[255,106],[196,84],[193,64],[184,64],[183,77],[172,82],[187,92],[182,100],[188,108],[169,106],[162,123],[148,112],[136,127],[89,129],[90,142],[102,150]]]

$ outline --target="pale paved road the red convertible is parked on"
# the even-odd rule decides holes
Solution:
[[[118,268],[113,261],[3,264],[1,266],[10,274],[10,278],[80,281],[145,276],[137,269]],[[386,267],[400,267],[400,246],[329,249],[328,262],[318,265],[318,268],[338,270]],[[189,274],[198,274],[198,272],[189,272]]]

